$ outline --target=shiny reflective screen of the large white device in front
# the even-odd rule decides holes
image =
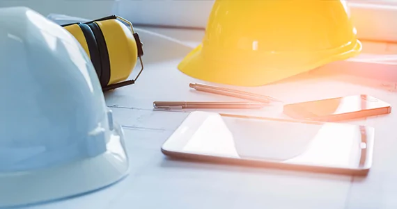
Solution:
[[[211,115],[188,140],[183,151],[305,165],[357,167],[361,158],[360,146],[359,126]]]

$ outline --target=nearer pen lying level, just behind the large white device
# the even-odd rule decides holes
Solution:
[[[267,106],[265,103],[252,103],[240,101],[155,101],[153,107],[166,109],[182,109],[182,108],[214,108],[214,109],[249,109],[263,108]]]

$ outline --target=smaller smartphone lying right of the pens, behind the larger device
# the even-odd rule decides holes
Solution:
[[[305,118],[329,117],[332,115],[342,115],[350,112],[360,112],[363,110],[375,110],[378,108],[388,108],[390,105],[384,101],[366,94],[348,97],[338,97],[318,101],[307,101],[303,103],[293,103],[284,107],[287,115],[301,116]]]

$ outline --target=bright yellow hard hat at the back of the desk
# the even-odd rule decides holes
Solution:
[[[204,81],[257,86],[361,48],[344,1],[216,0],[202,43],[178,69]]]

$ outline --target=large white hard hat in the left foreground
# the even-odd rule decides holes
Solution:
[[[29,8],[0,8],[0,208],[111,185],[128,171],[79,42]]]

